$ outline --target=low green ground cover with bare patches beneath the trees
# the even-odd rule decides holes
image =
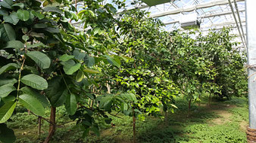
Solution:
[[[146,117],[137,125],[137,142],[246,142],[245,129],[248,126],[248,99],[234,97],[228,101],[214,101],[208,106],[207,100],[192,105],[187,111],[188,102],[177,99],[175,113],[169,113],[167,122],[155,117]],[[68,119],[64,108],[58,108],[58,129],[52,142],[133,142],[133,119],[118,114],[112,116],[111,125],[101,123],[101,135],[93,132],[81,139],[83,132],[76,127],[76,123]],[[48,113],[49,114],[49,113]],[[62,117],[61,117],[62,116]],[[47,136],[48,123],[42,124],[39,137],[37,117],[27,115],[23,108],[18,108],[17,114],[11,117],[8,126],[17,135],[16,142],[40,142]]]

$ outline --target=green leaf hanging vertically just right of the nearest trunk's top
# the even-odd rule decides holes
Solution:
[[[76,96],[73,93],[67,95],[65,107],[68,114],[73,115],[76,113]]]

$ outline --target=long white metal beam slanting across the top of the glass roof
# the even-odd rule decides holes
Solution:
[[[242,2],[245,0],[237,0],[237,2]],[[211,8],[217,5],[227,5],[229,4],[228,0],[217,0],[217,1],[212,1],[212,2],[204,2],[198,5],[191,5],[185,8],[178,8],[175,10],[171,10],[171,11],[164,11],[158,14],[152,14],[150,17],[164,17],[170,14],[180,14],[181,12],[190,12],[190,11],[195,11],[197,9],[201,9],[201,8]]]

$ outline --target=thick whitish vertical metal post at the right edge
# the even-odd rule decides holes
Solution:
[[[256,129],[256,1],[245,0],[247,57],[248,57],[248,99],[249,127]]]

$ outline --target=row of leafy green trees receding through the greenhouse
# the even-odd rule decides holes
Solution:
[[[233,48],[229,29],[166,32],[145,11],[117,14],[123,2],[81,3],[77,11],[68,0],[0,2],[0,141],[15,140],[5,122],[17,105],[48,121],[45,142],[62,105],[83,135],[99,135],[98,120],[111,123],[112,111],[129,115],[135,141],[136,118],[173,112],[176,96],[190,106],[205,93],[245,94],[245,56]],[[77,20],[84,30],[70,23]]]

